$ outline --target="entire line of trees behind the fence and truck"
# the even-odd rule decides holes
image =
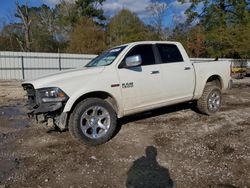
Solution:
[[[19,6],[23,17],[17,11],[15,16],[20,21],[2,28],[0,50],[100,53],[110,46],[165,40],[169,36],[163,29],[167,6],[162,4],[168,1],[151,1],[147,8],[151,25],[126,9],[102,25],[104,1],[61,1],[54,8]],[[189,3],[187,22],[171,29],[168,40],[181,42],[191,57],[250,58],[248,0],[190,0]],[[25,27],[25,22],[29,27]]]

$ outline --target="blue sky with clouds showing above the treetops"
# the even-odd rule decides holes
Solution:
[[[16,0],[0,0],[0,24],[13,22],[13,20],[15,20],[15,2]],[[19,2],[22,4],[25,0],[19,0]],[[53,7],[59,3],[60,0],[29,0],[28,2],[30,6],[47,4]],[[177,0],[168,0],[167,2],[168,8],[164,18],[164,26],[173,27],[175,22],[185,21],[186,16],[184,13],[190,4],[181,4]],[[122,8],[127,8],[135,12],[145,23],[150,23],[150,14],[146,11],[146,7],[149,3],[150,0],[106,0],[103,4],[103,10],[106,16],[111,17]]]

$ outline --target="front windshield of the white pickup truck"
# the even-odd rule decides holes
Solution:
[[[126,46],[121,46],[108,50],[91,60],[85,67],[99,67],[110,65],[125,47]]]

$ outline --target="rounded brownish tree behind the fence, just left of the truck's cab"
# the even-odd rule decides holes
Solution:
[[[90,18],[81,18],[70,37],[68,52],[98,54],[105,49],[105,32]]]

